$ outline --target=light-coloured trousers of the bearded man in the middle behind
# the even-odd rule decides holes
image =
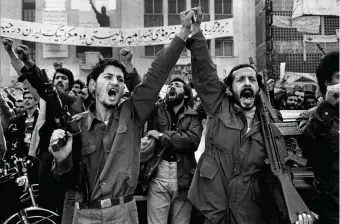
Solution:
[[[148,224],[189,224],[191,205],[178,198],[177,162],[161,160],[150,180],[147,201]]]

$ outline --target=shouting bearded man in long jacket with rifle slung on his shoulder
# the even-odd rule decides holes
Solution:
[[[188,199],[205,216],[206,224],[278,223],[280,215],[270,191],[260,181],[269,168],[255,102],[263,90],[262,77],[251,65],[241,64],[220,82],[200,29],[202,17],[199,7],[187,48],[193,83],[209,120],[205,151]],[[297,217],[301,224],[312,223],[309,215]]]

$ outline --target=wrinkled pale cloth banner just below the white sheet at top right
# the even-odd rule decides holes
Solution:
[[[320,24],[320,16],[302,16],[292,19],[290,16],[273,15],[273,26],[296,28],[299,32],[319,33]]]

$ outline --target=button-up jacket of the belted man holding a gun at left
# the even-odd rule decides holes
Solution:
[[[108,150],[107,159],[94,184],[91,201],[102,198],[117,198],[134,193],[139,174],[139,155],[141,128],[157,101],[158,93],[164,85],[172,67],[176,64],[185,42],[177,36],[160,51],[144,81],[135,87],[132,96],[119,105],[113,113],[111,124],[106,127],[103,138],[103,153]],[[95,150],[96,138],[91,128],[93,115],[87,112],[79,120],[81,129],[82,158],[85,159]],[[108,134],[109,133],[109,134]],[[106,137],[106,138],[105,138]],[[110,143],[112,141],[112,144]],[[76,143],[75,143],[76,144]],[[87,168],[90,164],[86,164]],[[71,174],[72,155],[57,163],[54,172],[62,181],[63,176]],[[76,199],[79,200],[79,199]]]

